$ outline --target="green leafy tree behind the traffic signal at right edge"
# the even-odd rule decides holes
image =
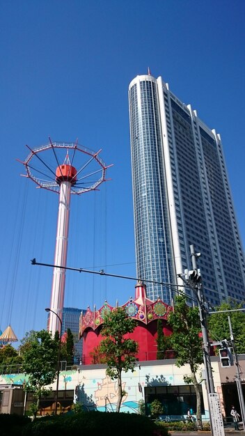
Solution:
[[[232,302],[223,302],[220,306],[214,308],[214,311],[227,311],[231,309],[242,309],[242,304]],[[228,315],[232,325],[232,332],[235,338],[236,351],[238,354],[245,353],[245,312],[227,312],[215,313],[208,318],[208,328],[210,336],[214,341],[230,341],[230,328]]]

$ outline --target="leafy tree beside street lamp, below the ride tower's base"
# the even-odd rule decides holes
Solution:
[[[23,371],[29,376],[25,390],[33,393],[35,402],[31,405],[31,410],[36,416],[41,396],[49,394],[51,390],[46,386],[56,378],[58,342],[47,330],[31,331],[23,339],[20,353],[23,357]]]

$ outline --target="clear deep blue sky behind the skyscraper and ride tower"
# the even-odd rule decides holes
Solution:
[[[135,277],[127,90],[145,74],[221,134],[242,241],[243,0],[0,1],[0,328],[21,339],[46,327],[58,196],[36,189],[16,159],[49,141],[99,150],[111,181],[72,197],[68,265]],[[65,306],[123,304],[134,281],[68,272]]]

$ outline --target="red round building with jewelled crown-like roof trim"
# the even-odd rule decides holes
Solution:
[[[139,281],[135,286],[135,297],[121,306],[125,308],[127,316],[137,321],[132,334],[126,337],[134,339],[139,344],[137,358],[139,361],[157,359],[157,320],[162,320],[165,336],[170,336],[172,331],[168,325],[168,313],[173,310],[161,299],[151,301],[146,296],[145,285]],[[99,310],[91,311],[90,307],[85,314],[81,313],[79,322],[79,338],[84,338],[82,364],[95,364],[93,352],[100,345],[104,316],[115,309],[107,302]]]

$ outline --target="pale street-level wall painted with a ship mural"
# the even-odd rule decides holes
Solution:
[[[121,412],[137,412],[139,401],[145,400],[145,387],[184,385],[184,375],[190,373],[189,366],[177,368],[174,363],[163,361],[142,362],[134,372],[122,373],[123,389],[126,395],[122,400]],[[214,385],[223,403],[221,378],[218,362],[212,362]],[[200,367],[200,373],[203,368]],[[28,376],[24,374],[0,375],[1,384],[24,384]],[[56,382],[51,385],[56,390]],[[209,418],[205,380],[202,382],[205,419]],[[87,410],[97,409],[112,412],[116,408],[118,398],[117,382],[106,376],[106,367],[102,365],[80,366],[73,371],[61,371],[59,390],[74,390],[74,402],[79,402]]]

